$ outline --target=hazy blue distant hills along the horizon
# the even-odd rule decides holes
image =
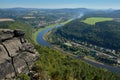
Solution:
[[[94,9],[87,9],[87,8],[63,8],[63,9],[39,9],[39,8],[1,8],[0,9],[0,17],[9,17],[15,18],[15,16],[24,16],[31,11],[44,11],[45,13],[71,13],[71,14],[80,14],[89,13],[89,16],[111,16],[111,17],[118,17],[120,10],[94,10]],[[91,13],[91,14],[90,14]],[[14,15],[13,15],[14,14]],[[87,14],[88,15],[88,14]],[[115,15],[115,16],[113,16]]]

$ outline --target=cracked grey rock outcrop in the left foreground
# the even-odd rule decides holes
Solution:
[[[39,54],[21,30],[0,29],[0,80],[27,73]]]

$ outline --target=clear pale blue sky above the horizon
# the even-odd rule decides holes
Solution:
[[[0,8],[120,9],[120,0],[0,0]]]

